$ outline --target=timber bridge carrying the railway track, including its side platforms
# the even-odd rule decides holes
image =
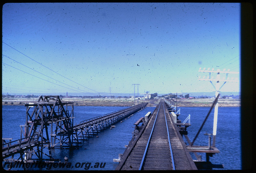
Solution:
[[[215,104],[215,102],[214,102]],[[212,106],[213,107],[213,106]],[[174,109],[176,113],[174,113]],[[209,161],[209,156],[220,151],[211,146],[193,146],[188,139],[187,127],[190,115],[184,122],[178,119],[180,110],[167,100],[160,101],[155,111],[141,117],[134,125],[132,140],[123,154],[119,154],[116,170],[197,170],[223,168]],[[187,123],[188,121],[188,123]],[[199,130],[200,131],[200,130]],[[186,145],[182,136],[189,145]],[[207,161],[201,160],[197,152],[206,153]],[[196,156],[193,160],[190,153]]]

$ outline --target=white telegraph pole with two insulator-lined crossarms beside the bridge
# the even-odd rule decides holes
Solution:
[[[238,82],[238,77],[236,79],[231,78],[231,80],[228,77],[228,74],[239,74],[239,72],[232,72],[229,69],[226,71],[226,69],[224,68],[223,71],[220,71],[220,69],[217,69],[214,71],[214,68],[212,68],[212,70],[210,70],[210,68],[208,68],[207,70],[204,68],[202,70],[202,68],[199,68],[199,72],[209,72],[209,78],[206,79],[205,76],[203,78],[201,78],[201,76],[199,76],[198,80],[202,80],[202,81],[210,81],[212,83],[212,81],[216,81],[216,84],[214,86],[214,84],[212,83],[212,86],[215,89],[215,98],[218,96],[220,89],[223,87],[223,85],[226,82]],[[211,77],[211,73],[217,73],[216,78],[214,79],[214,77]],[[222,79],[220,79],[220,73],[226,73],[226,77],[223,77]],[[220,82],[224,82],[221,87],[220,87]],[[212,146],[215,146],[215,141],[216,141],[216,133],[217,133],[217,119],[218,119],[218,100],[217,103],[215,105],[214,108],[214,118],[213,118],[213,131],[212,131],[212,135],[213,135],[213,140],[212,140]]]

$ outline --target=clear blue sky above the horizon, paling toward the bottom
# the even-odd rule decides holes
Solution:
[[[240,72],[239,3],[9,3],[2,34],[9,94],[211,92],[200,67]]]

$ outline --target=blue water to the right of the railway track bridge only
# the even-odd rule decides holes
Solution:
[[[191,126],[188,127],[188,137],[192,142],[206,115],[210,111],[210,107],[180,107],[180,111],[181,115],[179,116],[179,119],[181,120],[185,120],[188,114],[191,115]],[[204,133],[207,132],[212,134],[213,114],[214,109],[196,138],[194,145],[208,146],[208,135],[204,135]],[[240,116],[240,107],[218,108],[218,124],[215,146],[220,150],[220,153],[214,154],[213,157],[210,157],[212,164],[224,164],[224,169],[242,169]],[[183,140],[186,141],[185,138],[183,138]],[[205,153],[197,154],[202,155],[202,160],[206,161]],[[196,157],[192,155],[192,158],[195,159]]]

